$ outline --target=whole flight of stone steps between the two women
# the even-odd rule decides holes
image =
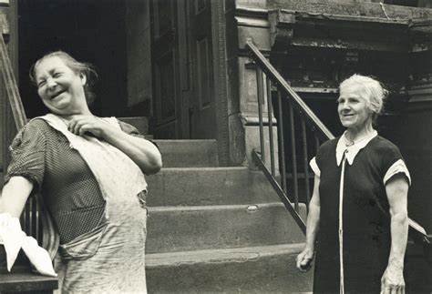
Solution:
[[[149,293],[312,291],[312,270],[295,269],[304,235],[262,172],[218,167],[215,140],[156,143],[164,167],[147,177]]]

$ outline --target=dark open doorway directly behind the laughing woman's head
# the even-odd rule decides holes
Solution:
[[[27,117],[46,114],[28,71],[38,58],[62,50],[95,66],[97,116],[128,117],[125,2],[17,0],[18,83]]]

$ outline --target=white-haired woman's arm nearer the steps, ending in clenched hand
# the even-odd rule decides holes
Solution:
[[[315,175],[314,178],[314,193],[309,202],[309,213],[306,222],[306,243],[302,253],[300,253],[296,260],[297,269],[300,271],[307,271],[310,269],[310,264],[314,259],[315,240],[318,233],[318,225],[320,222],[320,177]]]

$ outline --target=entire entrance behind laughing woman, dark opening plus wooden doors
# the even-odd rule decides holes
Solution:
[[[155,138],[217,137],[211,0],[16,1],[27,117],[47,111],[29,68],[63,50],[96,67],[95,115],[148,117]]]

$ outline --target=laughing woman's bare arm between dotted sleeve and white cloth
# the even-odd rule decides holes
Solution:
[[[12,217],[19,218],[33,185],[26,177],[11,177],[0,195],[0,213],[8,212]]]

